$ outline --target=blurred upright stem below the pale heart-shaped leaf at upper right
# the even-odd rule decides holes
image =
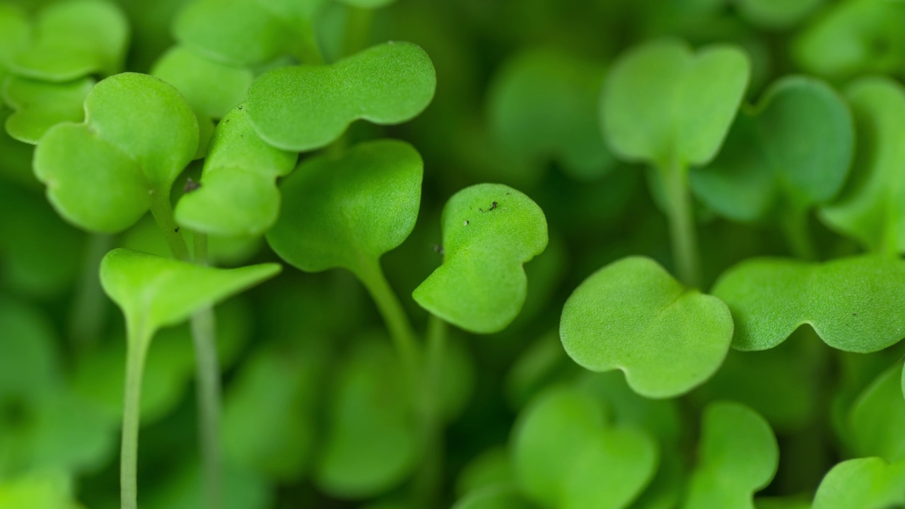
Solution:
[[[666,191],[673,263],[682,283],[698,286],[700,255],[688,188],[688,166],[673,161],[668,167],[660,168],[660,175]]]

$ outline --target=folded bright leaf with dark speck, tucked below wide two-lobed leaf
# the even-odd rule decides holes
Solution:
[[[242,106],[232,110],[214,130],[201,187],[176,204],[176,222],[209,235],[262,235],[280,212],[275,180],[291,172],[297,158],[264,143]]]

